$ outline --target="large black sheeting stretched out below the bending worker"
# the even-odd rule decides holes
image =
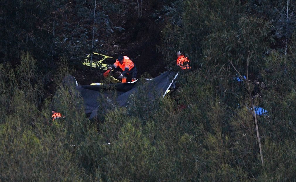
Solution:
[[[134,83],[76,86],[76,89],[83,99],[86,115],[92,119],[97,116],[100,107],[105,107],[101,102],[102,97],[108,96],[108,101],[117,102],[119,106],[128,106],[131,94],[135,95],[139,90],[151,100],[156,99],[155,97],[162,98],[176,76],[177,73],[168,71],[144,82],[138,80]],[[115,98],[115,101],[112,98]]]

